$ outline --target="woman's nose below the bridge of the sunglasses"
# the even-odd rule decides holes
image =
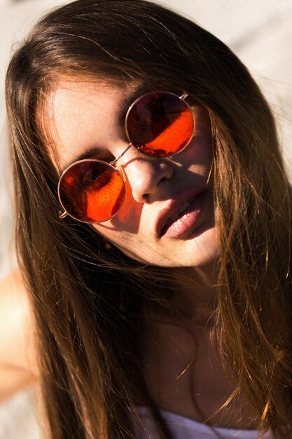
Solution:
[[[164,183],[174,175],[172,161],[146,156],[134,147],[125,154],[122,168],[138,203],[155,201],[162,194]]]

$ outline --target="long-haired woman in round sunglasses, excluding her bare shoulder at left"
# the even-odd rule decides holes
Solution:
[[[290,437],[291,188],[241,62],[161,6],[79,0],[6,89],[48,437]]]

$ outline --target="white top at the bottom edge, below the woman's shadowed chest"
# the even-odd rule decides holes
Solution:
[[[147,407],[136,407],[137,415],[137,439],[157,439],[158,433],[153,419]],[[260,432],[257,430],[239,430],[237,428],[211,427],[194,421],[187,417],[160,410],[160,414],[169,426],[175,439],[258,439]],[[274,439],[271,432],[263,435],[264,439]]]

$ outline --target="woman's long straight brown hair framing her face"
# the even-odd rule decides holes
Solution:
[[[272,114],[221,41],[143,0],[58,8],[34,27],[8,68],[16,242],[38,328],[48,437],[130,438],[135,401],[151,403],[137,346],[141,297],[155,273],[113,251],[90,227],[58,217],[58,175],[37,114],[61,74],[187,90],[209,110],[221,248],[216,322],[236,381],[226,406],[243,392],[258,428],[288,437],[291,188]]]

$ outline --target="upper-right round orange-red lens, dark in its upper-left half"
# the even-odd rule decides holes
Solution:
[[[132,104],[126,116],[130,142],[151,156],[177,154],[190,142],[193,130],[190,107],[174,93],[147,93]]]

